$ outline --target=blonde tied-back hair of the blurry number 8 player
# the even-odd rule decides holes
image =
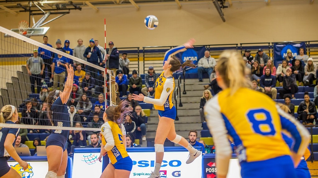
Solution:
[[[245,77],[246,72],[247,67],[245,67],[242,56],[236,51],[225,51],[220,55],[218,73],[224,84],[231,88],[230,95],[241,87],[251,87],[249,80]]]

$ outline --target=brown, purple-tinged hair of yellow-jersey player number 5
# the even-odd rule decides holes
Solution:
[[[117,106],[109,106],[105,110],[107,114],[107,120],[113,121],[116,124],[121,124],[125,119],[126,115],[130,115],[131,109],[128,101],[121,101]]]

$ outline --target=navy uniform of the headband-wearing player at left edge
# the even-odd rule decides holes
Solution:
[[[6,124],[15,124],[12,121],[6,121]],[[20,129],[17,128],[2,128],[0,130],[0,177],[7,174],[10,171],[10,167],[8,165],[8,159],[10,158],[9,153],[4,148],[4,142],[8,134],[13,134],[17,137]],[[14,146],[14,142],[12,143]]]

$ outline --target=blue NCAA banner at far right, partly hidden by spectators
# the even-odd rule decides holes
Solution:
[[[306,44],[305,42],[301,43],[274,43],[274,65],[277,67],[281,64],[282,60],[287,56],[287,49],[292,51],[293,56],[299,54],[299,48],[304,48],[304,53],[306,54]]]

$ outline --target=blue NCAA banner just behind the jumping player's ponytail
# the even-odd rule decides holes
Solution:
[[[181,59],[181,63],[183,63],[185,60],[192,60],[194,65],[198,64],[199,59],[204,57],[204,51],[206,48],[204,46],[201,47],[194,47],[191,49],[187,49],[184,52],[176,54],[176,57]],[[188,67],[187,67],[188,68]],[[197,73],[197,69],[188,69],[186,70],[186,73]]]

